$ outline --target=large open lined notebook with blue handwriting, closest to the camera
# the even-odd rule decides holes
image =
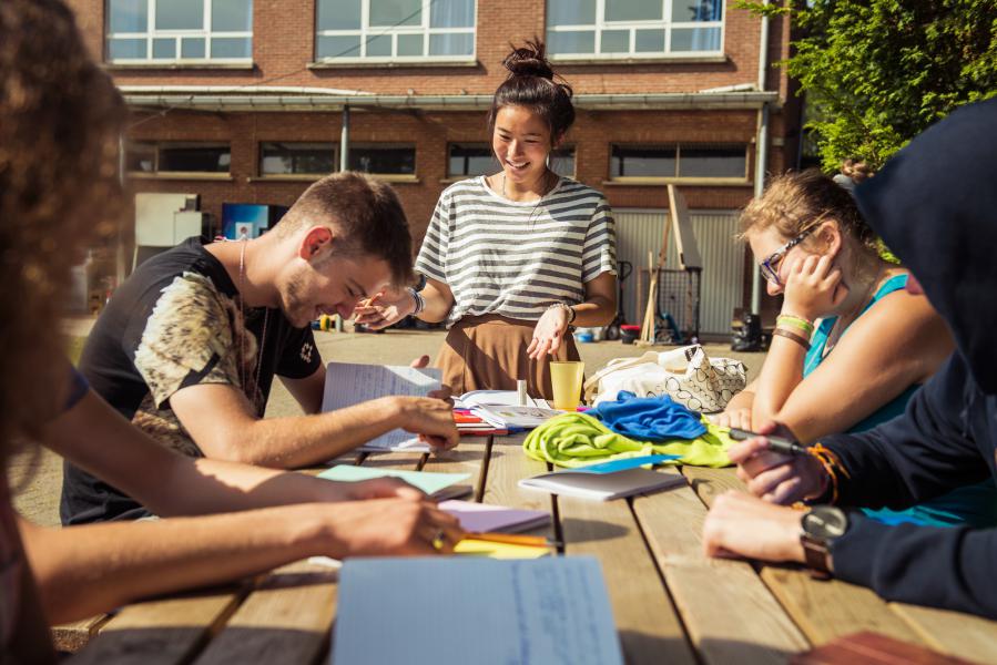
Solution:
[[[622,665],[591,556],[350,559],[339,575],[336,665]]]

